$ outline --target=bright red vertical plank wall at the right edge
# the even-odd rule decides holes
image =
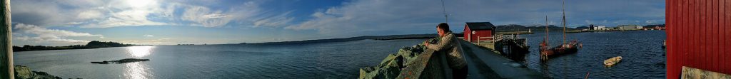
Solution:
[[[667,0],[667,78],[681,67],[731,74],[731,0]]]

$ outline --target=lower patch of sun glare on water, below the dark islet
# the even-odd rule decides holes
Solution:
[[[148,79],[152,78],[148,67],[140,62],[126,63],[124,77],[127,79]]]

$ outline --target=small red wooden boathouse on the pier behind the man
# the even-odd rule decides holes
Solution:
[[[469,42],[477,42],[478,37],[493,37],[495,34],[495,26],[490,22],[467,22],[464,25],[464,39]],[[489,40],[491,38],[482,38],[480,40]]]

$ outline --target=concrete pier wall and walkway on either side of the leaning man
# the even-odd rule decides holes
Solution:
[[[492,50],[482,48],[465,40],[461,41],[463,57],[466,59],[467,78],[546,78],[527,68],[517,61],[513,61]],[[404,78],[452,78],[451,70],[447,67],[445,54],[426,50],[418,58],[404,68],[398,79]]]

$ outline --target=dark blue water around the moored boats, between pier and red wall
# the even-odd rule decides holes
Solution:
[[[551,45],[561,43],[561,32],[549,33]],[[665,56],[661,48],[665,31],[609,31],[567,34],[568,39],[583,43],[577,53],[558,56],[545,63],[539,60],[539,42],[545,32],[521,35],[527,37],[531,53],[526,64],[551,78],[665,78]],[[603,61],[622,56],[620,63],[604,67]]]

